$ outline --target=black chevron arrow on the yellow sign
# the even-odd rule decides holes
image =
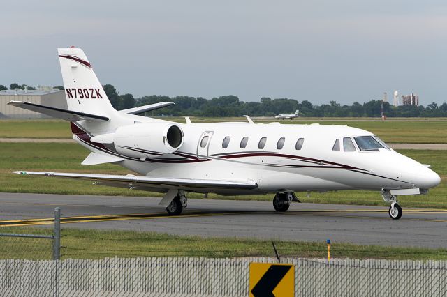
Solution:
[[[251,290],[251,294],[255,297],[274,297],[273,290],[277,287],[279,282],[288,271],[291,269],[291,265],[272,265],[264,273],[261,280]]]

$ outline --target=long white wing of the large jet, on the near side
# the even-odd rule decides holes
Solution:
[[[132,188],[138,190],[148,190],[154,188],[180,190],[197,190],[198,192],[212,191],[214,189],[238,189],[252,190],[258,188],[258,184],[251,180],[245,181],[217,181],[211,179],[191,179],[191,178],[159,178],[152,176],[134,175],[112,175],[112,174],[77,174],[63,172],[12,172],[22,175],[50,176],[61,178],[77,178],[93,181],[96,185],[109,185],[120,188]]]

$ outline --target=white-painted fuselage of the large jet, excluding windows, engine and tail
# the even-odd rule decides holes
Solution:
[[[439,176],[419,162],[393,150],[345,152],[332,151],[335,139],[372,135],[371,132],[344,125],[272,125],[250,123],[192,123],[181,124],[184,144],[179,153],[196,155],[200,135],[212,131],[209,158],[203,162],[139,162],[126,160],[121,165],[146,176],[218,180],[247,180],[258,183],[256,192],[278,190],[381,190],[400,188],[432,188],[439,184]],[[231,137],[228,148],[222,148],[225,137]],[[242,137],[249,137],[246,148],[240,148]],[[263,149],[258,148],[261,137],[267,137]],[[284,137],[282,149],[278,139]],[[295,149],[299,138],[304,138],[300,150]],[[354,142],[355,143],[355,142]],[[239,158],[224,158],[229,154],[251,154]],[[260,155],[264,154],[264,155]],[[268,154],[268,155],[265,155]],[[162,158],[179,158],[163,155]],[[305,162],[296,158],[318,161]],[[342,166],[335,166],[337,163]],[[309,167],[312,166],[312,167]],[[355,168],[355,169],[353,169]],[[221,194],[251,194],[222,191]]]

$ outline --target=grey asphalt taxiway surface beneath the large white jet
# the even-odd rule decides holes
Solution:
[[[63,228],[447,247],[445,209],[404,208],[400,220],[391,220],[387,206],[296,203],[277,213],[270,201],[189,199],[182,215],[168,216],[160,199],[0,193],[0,232],[6,226],[52,227],[52,212],[60,207]]]

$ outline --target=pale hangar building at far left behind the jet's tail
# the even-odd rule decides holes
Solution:
[[[38,105],[67,109],[65,92],[58,89],[50,90],[4,90],[0,91],[0,118],[39,119],[49,118],[37,112],[10,106],[9,101],[24,101]]]

